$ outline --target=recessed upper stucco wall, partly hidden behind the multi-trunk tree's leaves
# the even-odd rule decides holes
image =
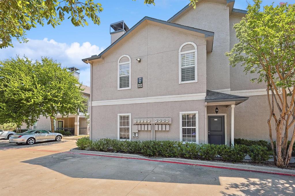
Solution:
[[[231,15],[230,16],[230,48],[238,43],[238,39],[236,37],[235,29],[233,29],[234,24],[240,22],[241,17]],[[266,88],[265,83],[257,84],[250,82],[250,79],[256,78],[258,74],[248,73],[245,75],[243,72],[244,67],[241,66],[242,63],[236,65],[236,67],[230,66],[230,89],[232,91],[235,90],[248,90],[248,89],[263,89]]]

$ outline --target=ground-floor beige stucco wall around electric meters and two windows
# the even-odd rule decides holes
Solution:
[[[199,143],[205,142],[204,134],[204,100],[180,101],[180,102],[158,102],[144,104],[125,104],[112,106],[94,106],[92,115],[95,120],[92,122],[92,139],[114,138],[117,139],[117,114],[131,113],[133,118],[145,117],[171,117],[172,123],[169,131],[156,131],[156,140],[179,141],[179,112],[198,111],[199,113]],[[131,121],[133,122],[133,121]],[[139,131],[138,139],[150,140],[151,131]]]

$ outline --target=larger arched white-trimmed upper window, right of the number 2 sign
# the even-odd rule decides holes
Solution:
[[[191,44],[195,49],[181,52],[183,46]],[[191,58],[193,57],[193,59]],[[198,82],[198,72],[197,72],[197,45],[194,42],[186,42],[182,44],[178,50],[178,82],[179,84]],[[194,68],[194,69],[193,69]],[[184,74],[182,72],[192,72],[190,74]],[[189,75],[189,78],[186,78]],[[192,77],[191,75],[194,75]]]

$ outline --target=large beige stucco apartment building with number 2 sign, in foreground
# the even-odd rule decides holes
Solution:
[[[269,140],[266,85],[224,55],[246,14],[234,3],[199,0],[168,21],[111,24],[111,45],[82,59],[91,66],[91,139]]]

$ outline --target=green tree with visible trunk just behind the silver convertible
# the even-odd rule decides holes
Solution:
[[[57,113],[78,115],[79,110],[86,111],[87,99],[82,97],[84,89],[78,79],[66,68],[61,68],[60,63],[44,57],[41,62],[36,61],[35,66],[38,84],[43,88],[41,114],[50,117],[53,132]]]

